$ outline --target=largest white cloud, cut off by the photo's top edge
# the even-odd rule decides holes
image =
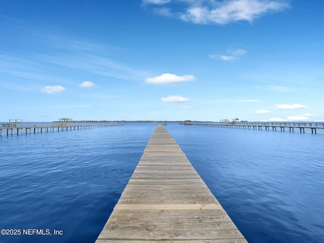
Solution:
[[[237,21],[253,22],[256,18],[270,13],[285,10],[287,1],[276,0],[228,0],[215,1],[183,1],[189,4],[185,14],[180,18],[195,24],[227,24]]]

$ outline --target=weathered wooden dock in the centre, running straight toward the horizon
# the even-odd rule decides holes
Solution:
[[[247,243],[174,138],[158,125],[96,243]]]

